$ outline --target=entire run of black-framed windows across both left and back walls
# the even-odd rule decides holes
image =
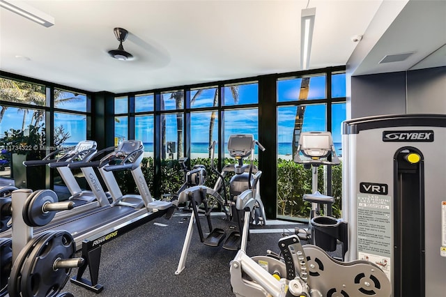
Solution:
[[[187,157],[190,167],[196,162],[208,166],[208,148],[216,142],[215,163],[221,169],[224,159],[225,162],[231,159],[227,152],[227,140],[231,134],[260,137],[262,142],[266,142],[263,146],[267,150],[277,151],[276,160],[270,156],[268,160],[259,158],[258,149],[254,154],[254,158],[260,160],[260,169],[268,172],[268,179],[277,181],[277,197],[272,193],[269,195],[272,199],[277,198],[277,205],[273,208],[275,215],[287,219],[307,218],[308,206],[301,205],[301,202],[302,195],[312,190],[307,183],[311,174],[308,170],[295,169],[296,140],[302,131],[328,130],[332,132],[337,154],[342,155],[341,122],[346,117],[345,69],[336,67],[268,75],[268,79],[272,80],[266,84],[265,77],[259,76],[116,94],[113,121],[108,118],[110,122],[105,121],[105,125],[113,123],[109,129],[114,131],[115,145],[124,139],[143,142],[146,157],[143,171],[151,190],[157,194],[155,197],[165,192],[176,192],[183,183],[183,172],[178,165],[180,158]],[[91,137],[91,128],[88,127],[91,125],[91,101],[87,92],[30,84],[9,77],[2,78],[0,82],[0,133],[6,132],[7,136],[11,128],[26,132],[27,126],[32,124],[45,128],[45,136],[47,128],[52,129],[54,139],[46,139],[45,145],[71,146]],[[276,82],[275,91],[266,91],[271,82],[272,85]],[[26,90],[33,96],[13,96],[10,91],[14,88]],[[268,104],[276,108],[262,108],[262,114],[259,114],[259,102],[270,102]],[[266,116],[270,113],[274,116]],[[277,128],[277,135],[265,137],[262,129],[270,126]],[[109,143],[109,140],[101,140]],[[272,164],[274,169],[270,168]],[[324,170],[322,192],[340,197],[340,168]],[[208,175],[213,173],[208,172]],[[284,188],[285,185],[288,188]],[[338,209],[334,213],[338,214],[339,205],[335,208]]]

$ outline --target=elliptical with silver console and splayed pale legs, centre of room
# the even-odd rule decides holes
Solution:
[[[187,227],[183,250],[181,251],[180,261],[175,272],[176,275],[179,275],[185,269],[185,262],[190,247],[190,241],[192,239],[194,223],[197,224],[197,230],[199,232],[201,243],[216,248],[224,242],[222,247],[225,250],[236,251],[240,248],[243,250],[246,249],[247,241],[249,240],[249,224],[251,221],[251,215],[252,213],[255,213],[256,208],[261,208],[261,213],[263,213],[261,218],[263,218],[263,221],[265,220],[266,216],[264,215],[265,212],[260,199],[258,187],[259,178],[262,172],[256,170],[256,172],[253,174],[253,155],[256,145],[263,151],[265,150],[265,148],[263,148],[259,142],[254,140],[253,135],[231,135],[231,137],[229,137],[228,150],[231,156],[236,158],[236,160],[240,160],[238,164],[224,167],[222,174],[218,172],[219,178],[217,179],[214,189],[208,188],[205,185],[196,185],[183,190],[183,192],[180,192],[178,201],[180,203],[190,201],[190,205],[192,206],[192,215],[189,226]],[[215,142],[213,142],[213,144],[210,146],[210,150],[212,156],[211,167],[213,167],[213,170],[216,171],[213,165]],[[249,155],[251,155],[251,162],[249,165],[244,165],[243,158],[246,158]],[[224,176],[226,176],[228,172],[236,173],[236,175],[231,178],[231,183],[229,185],[231,192],[230,199],[227,199],[226,197],[226,184],[224,183]],[[224,199],[220,195],[219,191],[224,192]],[[224,229],[219,227],[214,228],[212,226],[210,212],[212,211],[213,206],[216,204],[222,207],[224,213],[226,214],[227,220],[235,218],[238,224],[238,229],[234,227],[233,231],[231,231],[227,237]],[[199,206],[203,206],[204,209],[199,209]],[[205,236],[199,220],[200,213],[203,213],[206,218],[208,225],[207,236]]]

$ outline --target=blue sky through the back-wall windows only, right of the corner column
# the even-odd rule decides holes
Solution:
[[[295,101],[299,96],[301,79],[284,79],[277,83],[277,98],[279,102]],[[238,106],[243,107],[246,104],[257,103],[259,91],[257,84],[244,84],[238,86],[239,100]],[[191,98],[197,93],[197,90],[191,91]],[[203,89],[200,96],[196,99],[192,108],[212,107],[214,100],[215,88]],[[345,91],[345,75],[333,75],[332,77],[332,97],[344,97]],[[174,110],[175,100],[169,99],[170,93],[164,93],[164,109]],[[326,98],[325,95],[325,77],[311,77],[308,99],[317,100]],[[234,100],[229,87],[224,90],[224,104],[234,105]],[[115,108],[120,112],[127,110],[127,102],[125,99],[115,101]],[[139,96],[136,99],[135,109],[137,112],[153,110],[153,96]],[[278,142],[292,142],[293,126],[295,119],[296,107],[293,105],[279,107],[277,110],[278,117]],[[345,120],[345,105],[333,105],[332,108],[332,131],[334,142],[341,142],[341,122]],[[275,112],[275,111],[272,111]],[[324,131],[326,128],[325,105],[307,105],[304,118],[304,131]],[[191,142],[208,142],[209,123],[211,112],[192,112],[191,113]],[[217,139],[217,122],[215,121],[215,129],[213,138]],[[150,121],[153,121],[151,119]],[[135,128],[137,130],[136,138],[139,137],[143,142],[151,142],[153,139],[153,130],[151,122],[146,120],[137,120]],[[239,109],[226,111],[224,114],[224,135],[225,140],[229,135],[235,133],[251,133],[258,139],[258,114],[256,109]],[[116,125],[116,133],[118,135],[127,135],[127,123],[121,122],[122,125]],[[122,126],[121,128],[118,126]],[[174,114],[166,115],[166,131],[167,141],[176,141],[176,116]]]

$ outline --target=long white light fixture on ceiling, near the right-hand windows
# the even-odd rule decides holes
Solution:
[[[316,7],[302,9],[300,17],[300,66],[302,66],[302,70],[307,70],[309,67],[315,15]]]

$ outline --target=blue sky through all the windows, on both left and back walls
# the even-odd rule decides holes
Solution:
[[[239,100],[238,106],[243,107],[246,104],[257,103],[259,98],[258,86],[255,83],[243,84],[238,86]],[[282,79],[277,83],[277,98],[279,102],[293,101],[298,98],[300,91],[300,79]],[[191,98],[197,90],[191,91]],[[333,75],[332,77],[332,96],[344,97],[345,75]],[[212,107],[215,94],[215,88],[204,89],[199,98],[192,105],[193,107]],[[164,108],[166,110],[175,109],[175,101],[169,100],[170,93],[164,94]],[[84,95],[77,95],[70,92],[63,92],[61,98],[79,98],[69,102],[59,102],[57,107],[76,111],[86,110],[86,98]],[[309,99],[325,98],[325,77],[312,77],[310,79]],[[135,109],[137,112],[153,111],[153,95],[141,95],[135,99]],[[224,104],[234,105],[230,88],[224,88]],[[115,109],[119,113],[127,112],[127,99],[116,98]],[[293,134],[293,125],[295,118],[295,109],[293,105],[282,106],[277,110],[278,118],[278,142],[291,142]],[[332,134],[334,142],[341,142],[341,121],[345,120],[345,105],[333,105],[333,123]],[[271,112],[276,112],[272,110]],[[191,113],[191,137],[192,142],[208,142],[210,112],[192,112]],[[24,113],[15,107],[9,107],[0,123],[0,131],[6,131],[10,128],[22,128],[22,119]],[[31,123],[32,110],[26,116],[26,125]],[[217,123],[213,132],[214,139],[217,139]],[[257,109],[238,109],[226,111],[224,114],[224,134],[228,139],[230,134],[251,133],[258,139],[258,114]],[[86,138],[86,121],[84,116],[75,114],[56,113],[54,114],[55,125],[63,125],[67,132],[72,135],[70,142],[79,142]],[[167,123],[167,141],[176,141],[176,116],[170,114],[166,116]],[[116,135],[127,136],[128,120],[121,118],[120,123],[115,123]],[[135,138],[143,142],[152,142],[153,139],[153,116],[138,116],[135,122],[137,135]],[[307,105],[305,111],[304,128],[305,131],[323,131],[325,130],[325,105]]]

